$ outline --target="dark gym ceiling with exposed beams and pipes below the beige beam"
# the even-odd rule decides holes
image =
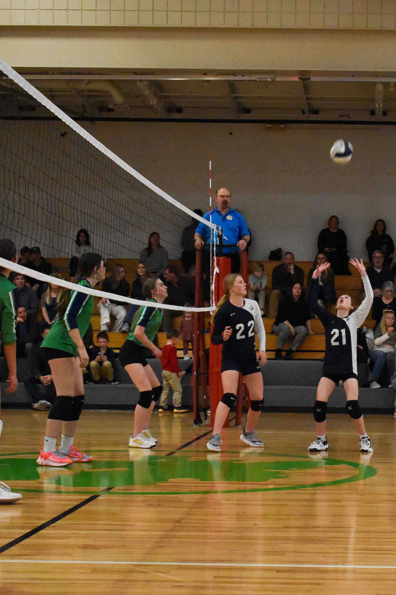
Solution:
[[[20,70],[71,117],[396,123],[396,73]],[[0,115],[40,117],[0,81]]]

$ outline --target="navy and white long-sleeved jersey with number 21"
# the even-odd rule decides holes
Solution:
[[[373,290],[367,275],[362,277],[365,299],[356,311],[352,310],[346,318],[339,318],[316,302],[319,282],[312,279],[306,292],[306,302],[318,315],[325,327],[326,350],[323,374],[357,374],[356,332],[365,321],[373,303]]]

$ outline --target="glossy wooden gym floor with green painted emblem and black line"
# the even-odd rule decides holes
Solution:
[[[328,456],[309,456],[309,414],[263,414],[264,449],[191,414],[153,415],[156,450],[129,450],[132,414],[85,411],[91,464],[38,468],[46,414],[2,411],[2,595],[394,595],[396,441],[368,415],[372,456],[347,415],[328,416]]]

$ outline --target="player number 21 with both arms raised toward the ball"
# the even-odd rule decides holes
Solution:
[[[315,419],[318,438],[308,447],[309,452],[328,450],[329,445],[326,437],[327,402],[335,385],[340,380],[343,381],[347,396],[347,413],[359,432],[360,452],[373,452],[370,439],[366,433],[363,415],[357,402],[359,385],[357,384],[356,356],[357,329],[370,311],[373,302],[373,290],[362,259],[360,262],[357,258],[351,259],[350,263],[362,275],[363,287],[366,292],[365,299],[356,311],[354,311],[353,300],[349,295],[338,297],[337,315],[322,308],[316,301],[319,289],[318,278],[330,267],[330,262],[324,262],[324,264],[316,268],[316,271],[313,271],[311,283],[309,283],[305,296],[306,302],[324,325],[326,338],[322,378],[319,380],[316,401],[313,406],[313,418]]]

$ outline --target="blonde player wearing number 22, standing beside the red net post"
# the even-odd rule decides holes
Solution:
[[[262,323],[258,303],[245,299],[246,283],[239,273],[227,275],[223,281],[224,296],[217,304],[213,315],[213,345],[223,345],[221,350],[221,382],[223,398],[217,405],[214,418],[213,435],[207,443],[208,450],[220,452],[221,429],[229,415],[230,408],[236,403],[239,374],[249,390],[251,406],[246,419],[246,427],[240,435],[242,442],[249,446],[264,446],[254,430],[264,405],[262,396],[261,367],[267,362],[265,353],[265,328]],[[259,350],[256,353],[256,328]]]

